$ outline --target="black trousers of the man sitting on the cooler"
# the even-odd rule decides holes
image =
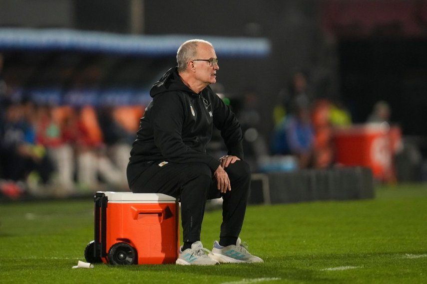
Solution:
[[[250,168],[245,161],[238,160],[225,169],[231,182],[231,191],[225,194],[217,189],[216,178],[204,163],[169,162],[160,166],[160,162],[142,166],[142,173],[130,181],[129,186],[134,193],[164,193],[179,197],[184,242],[200,240],[206,200],[221,197],[223,205],[220,237],[239,236],[251,181]],[[129,165],[128,172],[131,166],[138,165]]]

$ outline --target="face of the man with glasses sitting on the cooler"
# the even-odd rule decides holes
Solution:
[[[212,46],[199,43],[197,46],[197,55],[194,59],[216,59],[215,50]],[[210,66],[208,61],[193,61],[195,67],[195,78],[202,83],[209,85],[216,82],[216,71],[219,69],[218,64]]]

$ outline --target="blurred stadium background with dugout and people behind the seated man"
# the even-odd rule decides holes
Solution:
[[[192,38],[260,180],[427,181],[426,0],[0,0],[1,198],[128,190],[149,89]]]

